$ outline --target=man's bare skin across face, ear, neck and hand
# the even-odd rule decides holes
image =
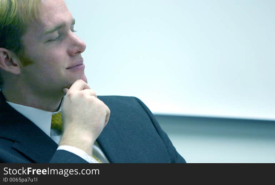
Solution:
[[[49,30],[62,25],[58,30]],[[70,145],[92,154],[92,146],[108,123],[110,110],[87,84],[82,62],[86,45],[73,30],[73,17],[62,0],[43,0],[40,15],[22,36],[24,56],[0,48],[2,92],[7,101],[54,112],[62,107],[63,136]],[[23,63],[31,63],[23,66]],[[85,110],[85,111],[83,111]]]

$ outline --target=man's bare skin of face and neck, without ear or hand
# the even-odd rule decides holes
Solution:
[[[11,80],[5,81],[3,94],[8,101],[53,112],[58,109],[64,87],[69,88],[78,79],[87,83],[84,70],[66,69],[82,59],[86,45],[73,33],[73,17],[65,2],[42,1],[40,13],[21,39],[25,51],[23,60],[33,62],[23,67],[22,58],[12,58],[20,72],[8,75]],[[66,27],[43,34],[62,23],[66,23]]]

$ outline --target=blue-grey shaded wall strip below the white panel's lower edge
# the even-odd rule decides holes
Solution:
[[[275,163],[275,121],[156,118],[187,163]]]

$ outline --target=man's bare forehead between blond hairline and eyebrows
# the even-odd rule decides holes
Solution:
[[[42,0],[40,15],[38,17],[39,27],[43,30],[50,29],[64,22],[72,22],[72,15],[63,0]]]

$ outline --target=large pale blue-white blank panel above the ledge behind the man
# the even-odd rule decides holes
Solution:
[[[275,1],[66,0],[89,85],[154,113],[275,119]]]

